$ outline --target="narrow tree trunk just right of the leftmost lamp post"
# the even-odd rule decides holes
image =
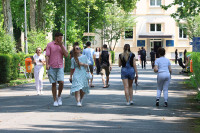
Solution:
[[[40,1],[40,0],[39,0]],[[35,10],[36,10],[36,0],[30,0],[30,28],[35,30]]]

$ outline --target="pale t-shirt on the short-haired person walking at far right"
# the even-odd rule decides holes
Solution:
[[[169,72],[169,66],[171,66],[170,60],[165,57],[156,59],[155,65],[158,66],[158,72]]]

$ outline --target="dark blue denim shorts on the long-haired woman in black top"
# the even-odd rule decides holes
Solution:
[[[123,68],[121,69],[121,79],[130,79],[134,80],[135,70],[134,68]]]

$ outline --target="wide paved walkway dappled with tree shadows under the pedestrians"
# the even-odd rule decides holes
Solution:
[[[53,107],[51,87],[44,82],[44,95],[37,96],[34,84],[0,89],[1,133],[188,133],[187,124],[198,112],[191,112],[187,94],[190,91],[179,75],[180,68],[173,66],[169,91],[169,107],[155,107],[156,74],[139,67],[139,87],[134,91],[134,105],[126,106],[120,68],[111,73],[110,87],[102,88],[100,76],[95,75],[91,94],[84,99],[83,107],[77,107],[75,98],[69,95],[70,83],[65,76],[63,106]],[[135,86],[134,86],[135,88]]]

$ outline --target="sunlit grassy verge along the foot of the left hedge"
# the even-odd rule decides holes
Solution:
[[[16,80],[11,80],[10,83],[0,84],[0,88],[5,88],[9,86],[17,86],[21,84],[33,83],[35,79],[25,78],[24,74],[19,74],[19,77]]]

